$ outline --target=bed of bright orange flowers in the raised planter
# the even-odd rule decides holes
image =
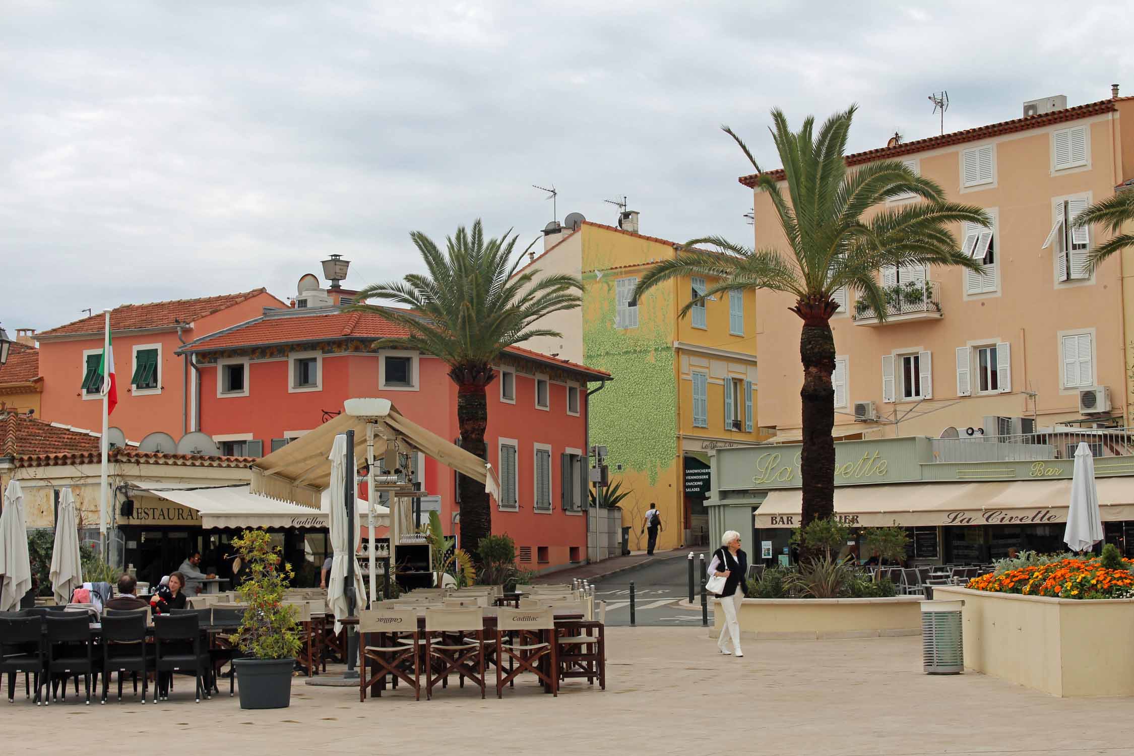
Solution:
[[[1018,593],[1053,598],[1126,598],[1134,588],[1132,562],[1127,569],[1107,569],[1099,559],[1064,559],[1050,564],[1022,567],[1000,575],[981,575],[968,581],[973,591]]]

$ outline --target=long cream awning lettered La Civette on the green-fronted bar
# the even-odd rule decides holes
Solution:
[[[1134,478],[1100,477],[1105,521],[1134,520]],[[798,489],[771,491],[756,509],[756,527],[799,525]],[[1070,479],[988,483],[907,483],[835,489],[835,516],[846,525],[1046,525],[1067,521]]]

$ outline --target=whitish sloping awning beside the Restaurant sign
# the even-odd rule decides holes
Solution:
[[[141,489],[143,493],[159,496],[195,509],[201,515],[201,527],[209,528],[325,528],[327,512],[278,501],[252,493],[248,486],[223,489],[162,490]],[[358,500],[358,518],[365,521],[367,502]],[[389,524],[390,510],[378,506],[378,524]]]

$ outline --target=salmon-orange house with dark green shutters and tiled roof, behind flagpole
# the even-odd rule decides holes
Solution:
[[[257,317],[265,307],[286,304],[264,289],[240,294],[121,305],[110,312],[118,406],[110,425],[130,441],[155,431],[179,439],[195,430],[197,377],[188,359],[176,354],[183,343]],[[100,431],[102,401],[84,379],[98,368],[103,343],[103,313],[36,334],[43,376],[43,419]],[[163,451],[172,451],[163,450]]]

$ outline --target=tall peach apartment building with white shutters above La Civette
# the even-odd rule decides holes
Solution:
[[[1126,425],[1132,261],[1114,256],[1088,275],[1086,254],[1109,235],[1068,220],[1134,176],[1134,97],[1115,92],[1075,108],[1049,97],[1036,114],[848,155],[847,163],[883,159],[988,211],[990,229],[954,229],[985,274],[882,270],[891,291],[885,322],[840,292],[831,318],[836,435],[1004,435],[1080,419]],[[786,248],[769,197],[756,192],[754,202],[756,246]],[[801,324],[789,304],[772,292],[756,301],[759,417],[780,438],[801,424]],[[985,427],[987,417],[1004,419]]]

